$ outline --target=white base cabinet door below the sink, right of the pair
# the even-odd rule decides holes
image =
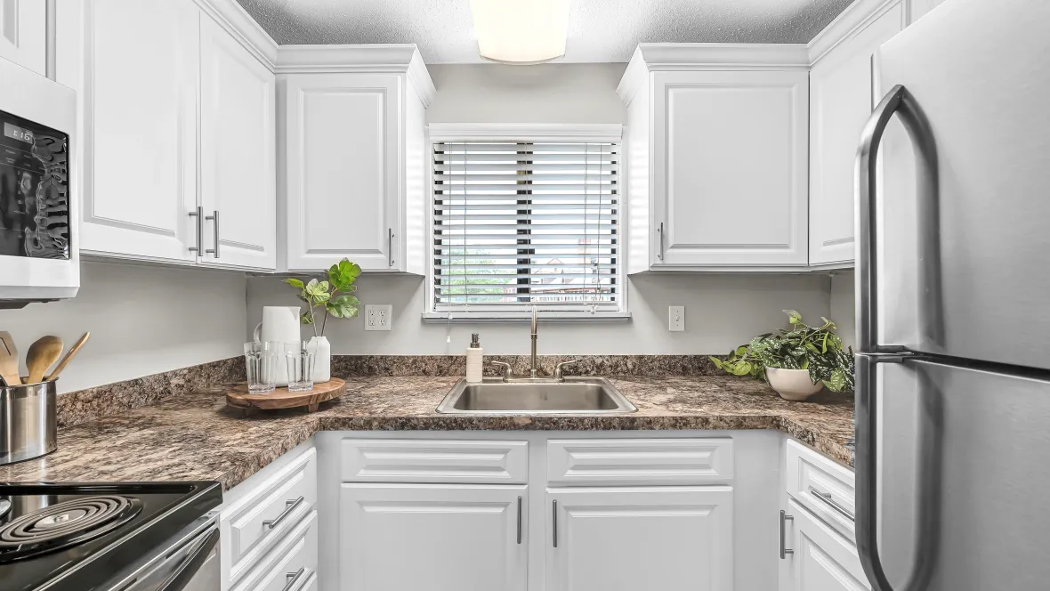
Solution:
[[[547,489],[548,591],[730,591],[733,488]]]

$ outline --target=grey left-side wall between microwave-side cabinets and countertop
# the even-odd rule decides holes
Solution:
[[[66,393],[244,354],[243,273],[81,262],[70,300],[0,310],[23,357],[43,335],[87,341],[59,379]],[[23,375],[25,363],[22,363]]]

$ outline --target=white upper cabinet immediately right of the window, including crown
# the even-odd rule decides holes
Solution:
[[[802,46],[638,46],[628,272],[806,265],[806,66]]]

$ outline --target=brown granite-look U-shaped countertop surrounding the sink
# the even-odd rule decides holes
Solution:
[[[331,407],[243,418],[220,391],[159,402],[59,429],[49,456],[0,466],[5,482],[213,480],[229,489],[318,430],[779,429],[853,464],[853,396],[822,393],[788,402],[762,382],[731,376],[618,377],[638,411],[572,415],[439,415],[458,378],[349,378]]]

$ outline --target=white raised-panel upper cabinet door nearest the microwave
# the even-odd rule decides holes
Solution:
[[[193,261],[200,9],[84,5],[82,252]]]

